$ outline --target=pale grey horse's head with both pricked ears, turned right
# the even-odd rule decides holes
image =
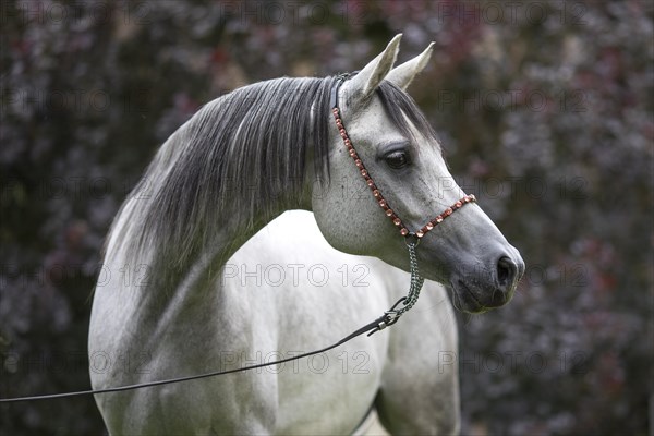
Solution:
[[[457,308],[501,306],[511,300],[524,262],[482,208],[468,202],[474,197],[450,174],[437,135],[404,92],[427,64],[433,44],[393,69],[400,37],[336,89],[347,135],[343,124],[331,121],[329,180],[314,183],[312,193],[316,221],[337,250],[404,270],[410,265],[402,235],[417,234],[422,275],[449,284]]]

